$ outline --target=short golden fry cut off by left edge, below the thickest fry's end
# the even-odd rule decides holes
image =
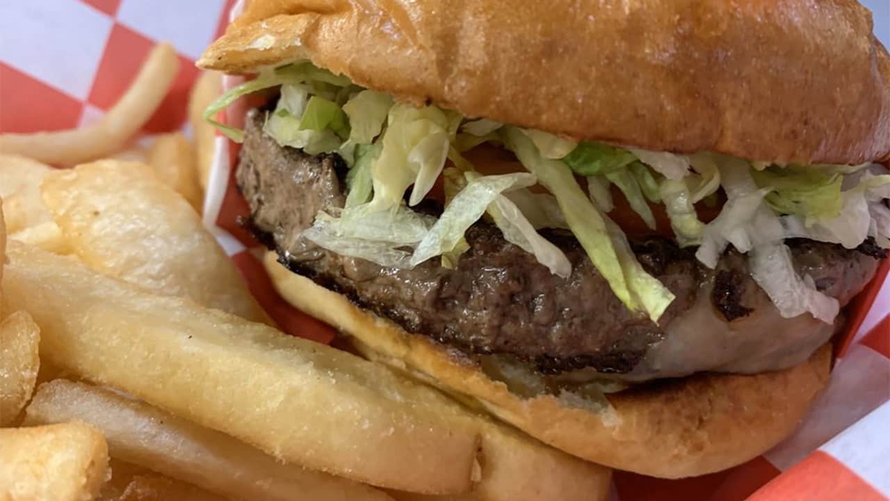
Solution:
[[[34,391],[40,359],[40,329],[25,311],[16,311],[0,323],[0,426],[19,415]]]

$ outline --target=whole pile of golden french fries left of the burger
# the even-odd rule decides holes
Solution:
[[[128,143],[177,70],[158,45],[99,124],[0,135],[0,499],[603,491],[599,466],[280,333],[199,215],[220,77],[195,86],[194,140]]]

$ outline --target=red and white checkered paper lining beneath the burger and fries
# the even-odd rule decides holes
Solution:
[[[0,132],[55,130],[98,119],[160,40],[175,45],[181,70],[144,133],[182,128],[188,90],[198,75],[192,62],[222,32],[232,4],[234,0],[0,0]],[[234,82],[227,80],[227,85]],[[236,105],[223,118],[237,125],[243,111]],[[334,332],[328,325],[290,308],[272,289],[252,252],[257,243],[235,222],[247,213],[232,179],[238,145],[221,136],[216,146],[205,204],[207,226],[287,333],[330,342]],[[611,499],[890,500],[888,269],[890,260],[848,308],[849,327],[838,344],[829,388],[794,435],[746,464],[694,479],[616,472]]]

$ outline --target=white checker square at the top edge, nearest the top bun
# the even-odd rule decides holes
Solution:
[[[213,41],[225,0],[124,0],[117,21],[198,59]]]

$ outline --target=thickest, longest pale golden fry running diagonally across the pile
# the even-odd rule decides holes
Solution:
[[[73,259],[14,241],[7,255],[6,301],[34,316],[51,364],[307,468],[427,494],[471,489],[478,432],[449,419],[457,404],[441,393]]]

